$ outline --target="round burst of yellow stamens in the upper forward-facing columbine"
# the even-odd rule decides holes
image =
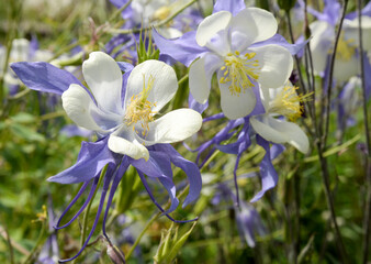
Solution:
[[[224,59],[221,70],[224,76],[220,79],[221,84],[231,81],[229,91],[232,95],[239,96],[247,88],[254,87],[252,81],[259,78],[259,62],[252,59],[256,53],[246,53],[240,55],[239,52],[228,53]]]

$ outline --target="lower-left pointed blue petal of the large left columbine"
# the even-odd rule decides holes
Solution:
[[[109,150],[106,142],[108,138],[97,142],[82,142],[76,164],[48,180],[59,184],[82,183],[100,174],[105,164],[116,164],[116,155]]]

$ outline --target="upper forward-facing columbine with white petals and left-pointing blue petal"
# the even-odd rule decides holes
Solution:
[[[254,87],[277,88],[289,78],[293,62],[290,52],[276,44],[258,44],[277,32],[274,16],[243,1],[217,1],[214,13],[204,19],[196,32],[168,41],[154,32],[162,54],[190,66],[189,85],[193,98],[205,103],[211,78],[216,72],[221,107],[229,119],[249,114],[256,105]]]

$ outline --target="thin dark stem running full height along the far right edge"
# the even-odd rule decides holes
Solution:
[[[366,92],[366,78],[364,78],[364,64],[363,64],[363,43],[362,43],[362,19],[361,19],[361,7],[362,0],[358,0],[358,35],[359,35],[359,56],[360,56],[360,68],[361,68],[361,85],[362,85],[362,108],[363,108],[363,123],[367,145],[367,157],[366,157],[366,205],[363,216],[363,230],[364,237],[362,241],[362,263],[368,263],[369,256],[369,244],[370,244],[370,222],[371,222],[371,142],[370,142],[370,130],[369,130],[369,117],[367,109],[367,92]]]

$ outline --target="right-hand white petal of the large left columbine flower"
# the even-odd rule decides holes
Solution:
[[[145,145],[157,143],[173,143],[183,141],[201,129],[202,117],[192,109],[177,109],[149,123],[145,139],[139,139]],[[142,135],[140,128],[136,128]]]

